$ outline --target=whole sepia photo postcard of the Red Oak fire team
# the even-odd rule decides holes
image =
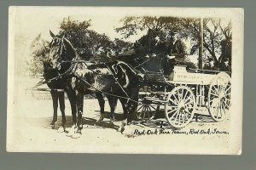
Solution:
[[[7,151],[241,154],[243,9],[9,7]]]

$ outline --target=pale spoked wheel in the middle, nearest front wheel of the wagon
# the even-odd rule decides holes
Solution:
[[[166,119],[172,127],[185,127],[194,117],[195,106],[195,95],[190,88],[173,88],[166,100]]]

